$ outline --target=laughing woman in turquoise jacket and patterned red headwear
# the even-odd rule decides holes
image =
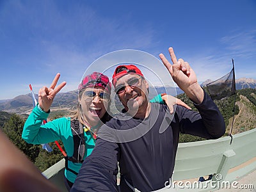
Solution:
[[[69,191],[74,184],[83,159],[89,156],[95,147],[97,129],[111,118],[107,112],[111,102],[111,83],[107,76],[98,72],[84,77],[78,88],[76,114],[71,118],[58,118],[42,125],[42,121],[49,116],[56,93],[60,92],[66,84],[63,82],[56,86],[59,78],[60,74],[57,74],[49,88],[44,86],[39,90],[38,104],[26,120],[22,138],[33,144],[49,143],[56,140],[63,141],[67,152],[67,157],[65,157],[65,185]],[[171,108],[176,103],[186,106],[184,102],[176,100],[170,95],[163,97],[169,100],[170,111],[173,111]],[[163,103],[159,95],[154,101]]]

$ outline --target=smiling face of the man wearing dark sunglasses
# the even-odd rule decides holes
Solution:
[[[126,74],[116,81],[116,93],[125,110],[138,111],[147,108],[148,83],[136,74]]]

